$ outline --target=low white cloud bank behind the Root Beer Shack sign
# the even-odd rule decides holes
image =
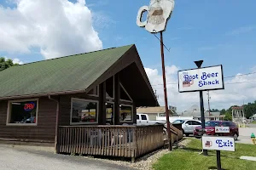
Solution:
[[[185,111],[191,105],[200,105],[199,93],[178,93],[176,65],[166,66],[166,87],[168,104],[177,106],[178,111]],[[164,90],[162,75],[157,69],[145,68],[153,89],[159,95],[160,105],[164,105]],[[256,71],[256,66],[251,69]],[[231,105],[242,105],[243,101],[253,102],[256,99],[256,74],[243,75],[225,79],[225,89],[210,91],[210,106],[212,109],[228,109]],[[205,110],[207,110],[207,92],[204,92]]]

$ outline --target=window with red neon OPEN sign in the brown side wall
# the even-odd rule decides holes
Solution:
[[[37,125],[38,99],[9,101],[7,124]]]

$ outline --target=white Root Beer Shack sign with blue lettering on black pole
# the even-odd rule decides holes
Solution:
[[[222,65],[178,71],[178,91],[224,89]]]

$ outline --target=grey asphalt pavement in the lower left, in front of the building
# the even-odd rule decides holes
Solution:
[[[21,150],[0,144],[2,170],[132,170],[79,156],[63,156],[42,150]]]

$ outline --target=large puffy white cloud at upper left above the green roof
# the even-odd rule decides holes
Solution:
[[[0,51],[31,53],[45,59],[102,48],[85,0],[15,0],[15,8],[0,7]]]

